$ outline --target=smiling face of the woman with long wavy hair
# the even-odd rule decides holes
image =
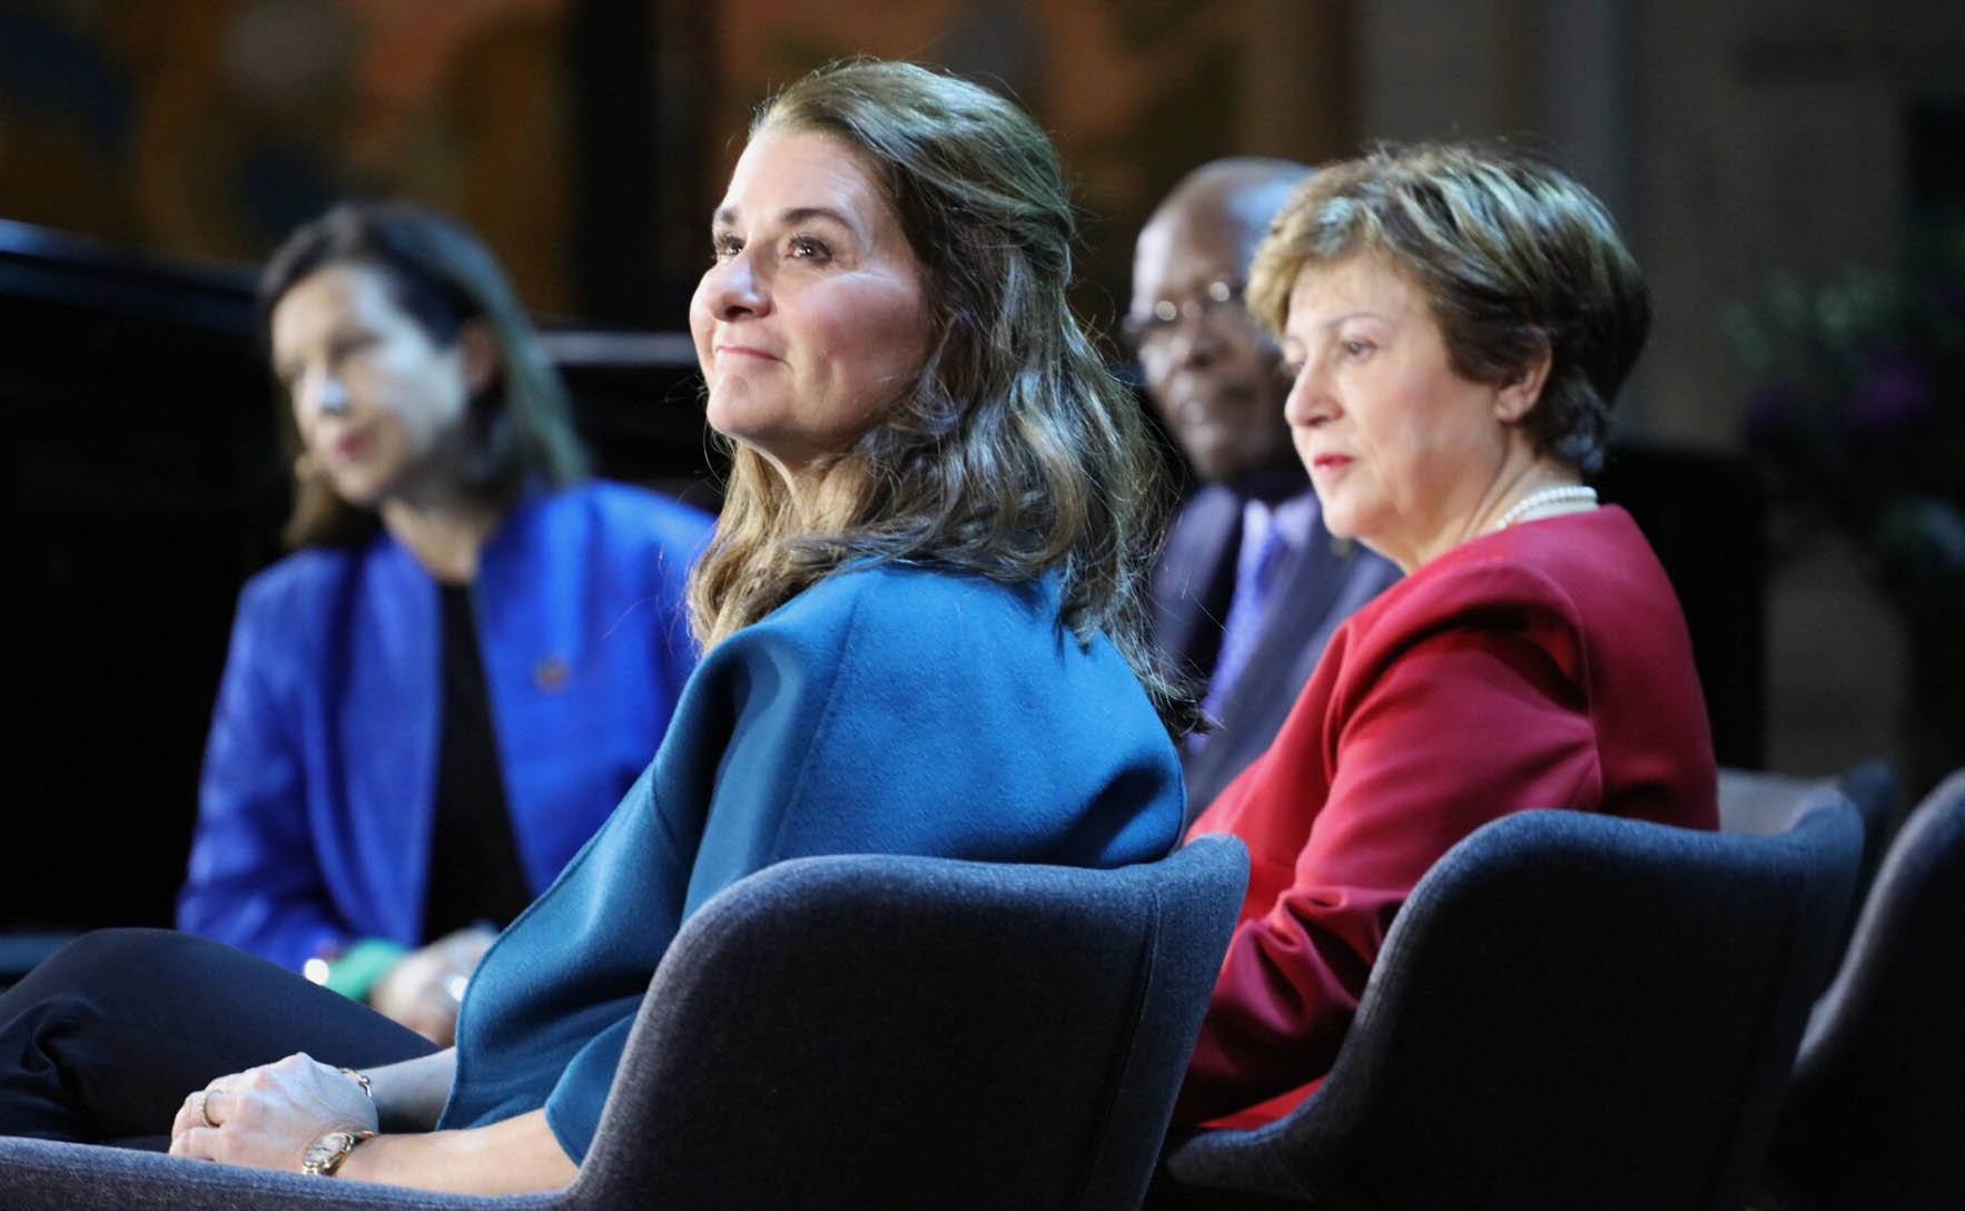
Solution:
[[[764,128],[690,301],[709,423],[796,480],[845,450],[927,358],[924,275],[861,151]]]

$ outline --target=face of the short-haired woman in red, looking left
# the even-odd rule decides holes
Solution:
[[[1462,377],[1425,295],[1372,256],[1307,265],[1289,293],[1285,417],[1324,525],[1411,572],[1478,535],[1535,460],[1515,421],[1541,375]]]

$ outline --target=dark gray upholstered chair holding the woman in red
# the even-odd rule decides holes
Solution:
[[[1175,1142],[1155,1201],[1737,1211],[1861,845],[1839,800],[1776,837],[1480,828],[1393,920],[1319,1091]]]

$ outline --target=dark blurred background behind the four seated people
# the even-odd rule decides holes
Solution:
[[[707,214],[751,106],[851,53],[1039,116],[1104,332],[1205,159],[1495,136],[1572,171],[1656,295],[1623,474],[1725,537],[1672,568],[1688,611],[1729,604],[1694,627],[1721,759],[1884,757],[1912,796],[1965,761],[1965,4],[4,0],[0,924],[169,920],[234,594],[285,507],[253,263],[346,195],[460,216],[554,332],[601,470],[713,507],[674,336]]]

